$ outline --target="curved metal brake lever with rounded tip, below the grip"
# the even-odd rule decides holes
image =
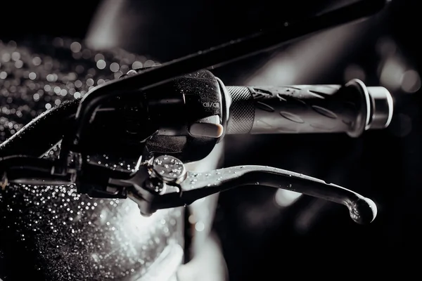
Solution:
[[[148,176],[147,176],[148,174]],[[265,185],[321,198],[349,209],[350,217],[360,224],[376,217],[376,204],[357,192],[318,178],[270,166],[232,166],[205,173],[186,171],[176,157],[161,155],[146,162],[131,180],[128,197],[141,209],[153,214],[158,209],[186,206],[208,195],[242,185]]]

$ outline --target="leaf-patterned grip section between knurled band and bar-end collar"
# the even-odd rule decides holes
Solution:
[[[255,100],[251,133],[347,132],[359,108],[352,99],[355,95],[340,93],[338,85],[249,88]]]

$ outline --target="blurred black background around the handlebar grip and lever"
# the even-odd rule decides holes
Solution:
[[[143,11],[147,20],[139,20],[144,22],[141,25],[132,17],[132,30],[138,30],[139,36],[127,37],[131,40],[119,44],[165,62],[274,22],[312,14],[333,1],[271,2],[240,6],[226,1],[133,1],[129,5],[131,13]],[[99,3],[2,3],[0,39],[40,34],[84,39]],[[367,85],[382,84],[378,68],[385,63],[385,57],[377,53],[377,44],[385,37],[394,42],[396,53],[407,65],[420,72],[418,6],[417,0],[392,1],[383,18],[374,20],[373,30],[356,46],[347,46],[333,69],[312,81],[304,77],[303,83],[343,83],[345,69],[354,64],[364,70]],[[116,26],[120,25],[116,22]],[[242,84],[245,77],[281,51],[283,48],[234,63],[215,70],[215,74],[226,84]],[[269,188],[254,186],[226,192],[220,196],[215,230],[222,242],[230,280],[255,280],[263,275],[279,280],[286,274],[306,273],[304,269],[298,271],[298,266],[319,266],[317,272],[329,273],[340,263],[351,270],[347,275],[355,275],[367,266],[379,269],[377,265],[383,273],[414,270],[402,266],[407,259],[421,261],[421,91],[409,94],[394,90],[392,94],[395,117],[390,128],[367,132],[361,138],[227,138],[226,166],[264,164],[291,169],[362,192],[379,207],[376,221],[370,226],[357,226],[345,208],[310,197],[300,197],[290,207],[281,208],[274,204],[275,191]]]

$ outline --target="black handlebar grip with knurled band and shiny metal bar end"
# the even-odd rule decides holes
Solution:
[[[226,132],[338,133],[357,137],[383,129],[392,118],[392,97],[383,87],[354,79],[340,85],[227,86],[231,95]]]

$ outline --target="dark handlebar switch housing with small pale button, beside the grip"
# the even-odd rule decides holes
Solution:
[[[120,103],[125,133],[136,146],[130,149],[132,154],[166,154],[184,162],[198,161],[211,152],[223,134],[227,115],[219,79],[207,70],[136,93],[129,102],[121,98]]]

